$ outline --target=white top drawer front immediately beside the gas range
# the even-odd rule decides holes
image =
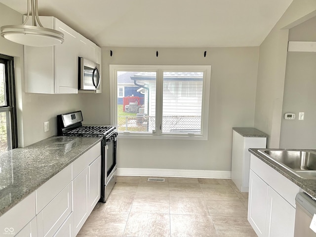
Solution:
[[[83,153],[73,164],[73,179],[79,175],[89,164],[97,157],[101,156],[101,142],[92,147],[87,152]]]

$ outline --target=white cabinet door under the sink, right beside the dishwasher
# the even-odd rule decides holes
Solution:
[[[267,226],[269,237],[293,237],[295,208],[269,187]]]

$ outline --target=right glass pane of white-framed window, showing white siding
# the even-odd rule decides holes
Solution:
[[[201,134],[203,72],[164,72],[163,133]]]

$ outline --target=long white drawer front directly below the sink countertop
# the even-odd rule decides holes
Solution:
[[[254,155],[251,155],[250,169],[295,207],[295,196],[300,191],[300,188],[296,184]]]

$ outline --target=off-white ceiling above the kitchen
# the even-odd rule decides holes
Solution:
[[[99,46],[259,46],[293,0],[38,0]],[[0,0],[25,14],[27,0]]]

